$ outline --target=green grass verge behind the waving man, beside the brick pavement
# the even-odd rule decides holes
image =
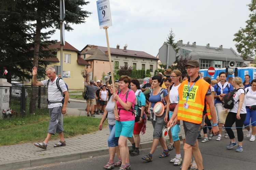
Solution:
[[[99,118],[85,116],[68,116],[63,118],[64,137],[70,138],[77,135],[98,131]],[[107,121],[105,121],[107,122]],[[49,116],[34,115],[27,118],[12,118],[0,120],[0,146],[14,145],[26,142],[43,141],[47,135]],[[106,125],[107,123],[104,123]],[[51,140],[56,140],[59,135],[53,135]]]

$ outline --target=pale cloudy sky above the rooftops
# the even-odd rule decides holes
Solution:
[[[87,44],[107,47],[100,29],[96,0],[83,9],[92,14],[86,22],[65,31],[65,40],[77,50]],[[174,42],[196,42],[199,46],[233,48],[234,34],[246,26],[251,0],[109,0],[112,26],[108,28],[110,48],[144,51],[157,56],[172,29]],[[57,30],[51,39],[60,40]]]

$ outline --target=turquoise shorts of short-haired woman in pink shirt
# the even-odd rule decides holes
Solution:
[[[116,128],[115,128],[115,137],[119,137],[120,135],[125,137],[132,137],[133,127],[134,127],[135,120],[129,121],[116,121]]]

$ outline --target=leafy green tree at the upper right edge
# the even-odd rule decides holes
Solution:
[[[256,0],[252,0],[247,6],[251,12],[249,19],[246,21],[245,28],[240,28],[234,34],[235,38],[233,39],[237,42],[237,51],[244,53],[244,57],[255,56],[256,54]]]

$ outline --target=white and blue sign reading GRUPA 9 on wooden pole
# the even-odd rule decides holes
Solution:
[[[98,0],[97,9],[100,29],[105,26],[112,26],[109,0]]]

